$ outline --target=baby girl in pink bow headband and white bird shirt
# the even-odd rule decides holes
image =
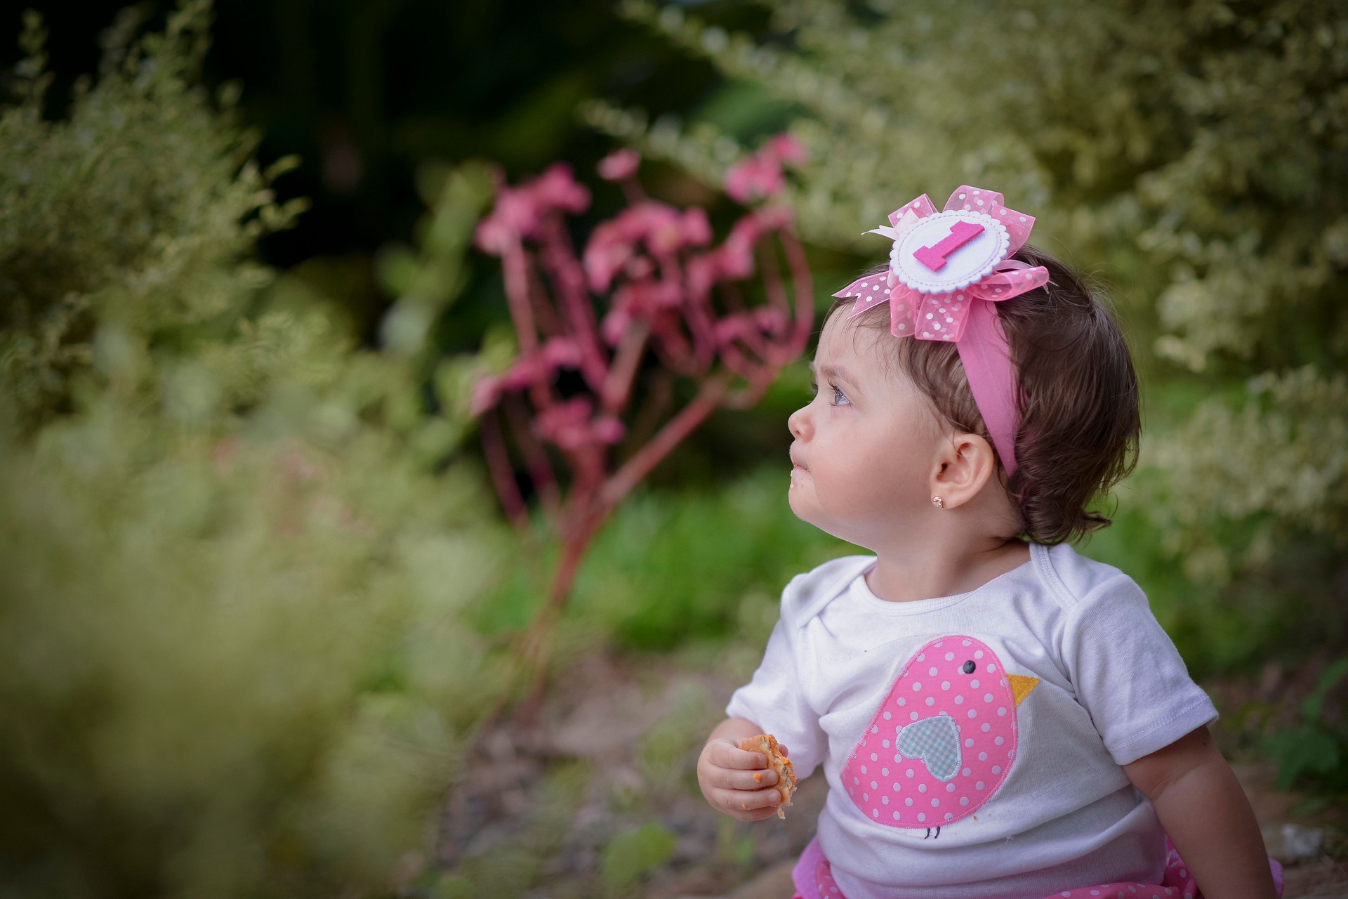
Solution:
[[[1138,381],[1033,224],[985,189],[919,197],[836,294],[790,504],[874,555],[786,586],[698,782],[758,821],[782,794],[741,740],[822,766],[801,899],[1271,899],[1216,709],[1132,578],[1072,547],[1136,458]]]

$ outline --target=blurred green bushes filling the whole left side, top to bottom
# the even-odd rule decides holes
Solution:
[[[462,623],[507,554],[456,398],[253,260],[298,206],[194,86],[208,22],[124,16],[43,121],[30,15],[0,112],[7,894],[384,894],[508,679]],[[439,179],[437,309],[479,181]]]

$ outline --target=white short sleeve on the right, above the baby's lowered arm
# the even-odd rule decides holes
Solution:
[[[1189,677],[1147,596],[1123,576],[1085,597],[1069,617],[1064,662],[1077,701],[1117,764],[1136,762],[1217,718]]]

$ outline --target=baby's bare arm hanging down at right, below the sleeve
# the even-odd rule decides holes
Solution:
[[[1123,766],[1205,896],[1274,899],[1254,810],[1202,726]]]

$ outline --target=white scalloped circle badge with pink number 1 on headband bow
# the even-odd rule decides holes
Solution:
[[[919,218],[894,241],[890,270],[923,294],[949,294],[989,274],[1007,257],[1006,225],[980,212],[956,210]]]

